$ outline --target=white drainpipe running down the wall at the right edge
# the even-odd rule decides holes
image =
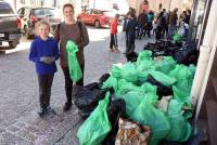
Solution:
[[[212,2],[209,15],[208,15],[203,44],[200,47],[201,53],[200,53],[199,64],[197,64],[196,72],[195,72],[194,82],[192,85],[192,92],[191,92],[192,98],[193,97],[195,98],[194,105],[196,105],[195,120],[197,120],[199,113],[201,110],[204,93],[206,90],[210,68],[212,68],[215,52],[216,52],[216,44],[217,44],[217,34],[216,34],[217,29],[215,27],[217,23],[216,10],[217,10],[217,0],[214,0]]]

